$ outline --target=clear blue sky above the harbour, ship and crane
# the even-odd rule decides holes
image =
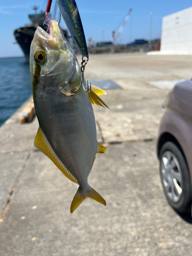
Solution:
[[[54,11],[53,0],[51,13]],[[149,39],[150,15],[152,13],[152,38],[161,36],[162,17],[192,6],[192,0],[76,0],[84,34],[88,42],[93,38],[95,42],[102,39],[111,41],[112,31],[117,31],[126,13],[133,9],[118,43],[127,44],[135,39]],[[29,24],[28,14],[34,13],[32,6],[39,6],[45,10],[47,0],[0,0],[0,57],[23,56],[22,50],[15,44],[14,29]],[[58,12],[58,10],[57,10]],[[58,16],[58,15],[57,15]],[[61,17],[61,27],[66,28]],[[102,32],[103,31],[103,32]]]

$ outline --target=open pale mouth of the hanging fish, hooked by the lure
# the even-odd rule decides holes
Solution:
[[[42,40],[42,43],[46,47],[52,49],[57,44],[57,37],[59,37],[59,36],[62,37],[61,33],[59,34],[59,32],[60,32],[59,25],[58,25],[58,23],[56,22],[55,19],[50,19],[49,31],[50,31],[50,34],[47,33],[41,27],[37,27],[36,33],[38,34],[38,36]]]

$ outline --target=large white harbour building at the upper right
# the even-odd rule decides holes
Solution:
[[[192,54],[192,7],[163,17],[162,54]]]

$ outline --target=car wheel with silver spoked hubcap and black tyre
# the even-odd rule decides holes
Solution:
[[[180,213],[191,209],[189,171],[182,151],[174,142],[166,142],[160,151],[160,176],[169,204]]]

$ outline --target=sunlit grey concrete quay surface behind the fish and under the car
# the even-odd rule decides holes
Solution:
[[[162,193],[156,138],[168,90],[154,80],[188,79],[192,56],[90,56],[86,79],[113,79],[94,106],[98,154],[89,183],[106,207],[86,199],[71,215],[77,185],[33,147],[38,123],[19,110],[0,129],[0,255],[190,255],[191,218],[178,216]]]

